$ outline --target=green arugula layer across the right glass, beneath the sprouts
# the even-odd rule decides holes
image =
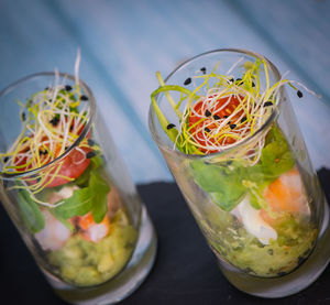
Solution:
[[[230,166],[206,164],[202,161],[191,162],[191,172],[196,183],[223,210],[233,209],[250,193],[251,204],[255,208],[265,207],[262,196],[264,188],[279,175],[288,172],[295,162],[289,145],[277,126],[267,137],[261,157],[254,166],[244,167],[235,161]],[[250,187],[244,182],[250,182]],[[251,187],[253,185],[253,187]]]

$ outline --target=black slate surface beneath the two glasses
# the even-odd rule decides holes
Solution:
[[[330,199],[330,171],[318,172]],[[123,305],[148,304],[330,304],[330,268],[307,290],[282,299],[264,299],[235,290],[220,273],[175,184],[139,186],[158,233],[155,265]],[[61,305],[36,268],[18,231],[0,208],[0,304]]]

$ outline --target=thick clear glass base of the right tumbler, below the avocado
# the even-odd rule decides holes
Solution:
[[[249,275],[219,260],[219,266],[228,281],[238,290],[261,297],[284,297],[306,288],[323,272],[330,261],[329,207],[326,203],[320,236],[310,257],[294,272],[274,279]]]

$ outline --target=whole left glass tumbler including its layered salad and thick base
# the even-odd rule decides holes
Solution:
[[[40,73],[3,89],[0,105],[0,199],[48,283],[73,304],[127,297],[153,265],[156,236],[91,90]]]

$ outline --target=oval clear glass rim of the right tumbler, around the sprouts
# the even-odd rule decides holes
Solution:
[[[194,62],[195,59],[198,59],[202,56],[209,55],[209,54],[215,54],[215,53],[238,53],[241,55],[248,55],[251,57],[255,57],[255,58],[260,58],[260,59],[264,59],[266,65],[271,68],[271,72],[274,74],[275,76],[275,80],[278,81],[280,80],[282,76],[279,70],[277,69],[277,67],[265,56],[255,53],[253,51],[249,51],[249,50],[244,50],[244,48],[218,48],[218,50],[212,50],[212,51],[208,51],[208,52],[204,52],[201,54],[198,54],[194,57],[190,57],[189,59],[185,61],[184,63],[182,63],[180,65],[178,65],[172,73],[169,73],[169,75],[164,79],[164,83],[166,85],[166,83],[170,79],[170,77],[176,74],[178,70],[180,70],[182,68],[186,67],[187,65],[189,65],[191,62]],[[158,97],[160,94],[156,96],[156,101],[158,101]],[[275,119],[278,116],[278,111],[277,109],[279,108],[282,100],[284,97],[284,87],[280,86],[279,87],[279,98],[277,98],[276,100],[276,106],[277,108],[274,108],[272,113],[270,115],[270,117],[267,118],[267,120],[255,131],[255,133],[253,133],[252,135],[246,137],[245,139],[243,139],[241,142],[237,143],[235,145],[228,148],[228,149],[223,149],[222,151],[216,152],[216,153],[210,153],[210,154],[187,154],[184,152],[180,152],[179,150],[175,149],[170,149],[162,139],[161,137],[157,134],[156,132],[156,128],[155,128],[155,111],[153,108],[153,105],[150,105],[150,109],[148,109],[148,128],[151,131],[151,134],[154,139],[154,141],[157,143],[157,145],[160,145],[162,149],[164,149],[165,151],[170,151],[170,153],[175,153],[179,156],[186,157],[186,159],[191,159],[191,160],[196,160],[196,159],[213,159],[217,156],[221,156],[221,155],[226,155],[234,150],[237,150],[238,148],[248,144],[249,142],[252,142],[253,140],[255,140],[260,134],[262,134],[262,132],[264,130],[266,130],[270,126],[272,126],[272,123],[275,121]]]

